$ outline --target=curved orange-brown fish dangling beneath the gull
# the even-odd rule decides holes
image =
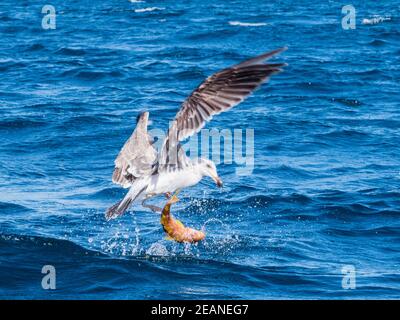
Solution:
[[[185,227],[182,222],[174,219],[170,213],[171,204],[178,202],[179,199],[173,195],[165,205],[161,213],[161,224],[168,237],[178,242],[198,242],[203,240],[206,234],[203,231]]]

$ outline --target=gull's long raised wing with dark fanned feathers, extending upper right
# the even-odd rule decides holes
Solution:
[[[223,69],[208,77],[183,102],[177,113],[159,157],[159,168],[182,165],[179,141],[201,130],[207,121],[242,102],[271,75],[282,71],[285,63],[263,63],[286,50],[280,48]]]

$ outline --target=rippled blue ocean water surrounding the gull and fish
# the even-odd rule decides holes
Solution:
[[[0,298],[399,298],[399,3],[353,1],[352,30],[343,5],[2,1]],[[165,240],[140,207],[105,221],[139,111],[165,130],[205,77],[285,45],[285,72],[208,124],[253,128],[255,167],[182,193],[204,242]]]

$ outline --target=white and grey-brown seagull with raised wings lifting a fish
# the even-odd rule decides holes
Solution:
[[[238,105],[271,75],[282,71],[286,63],[264,61],[286,49],[261,54],[209,76],[182,103],[159,153],[147,131],[149,112],[139,114],[134,132],[114,161],[112,176],[113,183],[129,191],[121,201],[108,208],[106,219],[121,216],[140,200],[144,207],[161,211],[147,205],[146,201],[158,195],[170,197],[172,193],[196,185],[203,177],[211,177],[222,187],[215,163],[205,158],[190,159],[180,142],[199,132],[214,115]]]

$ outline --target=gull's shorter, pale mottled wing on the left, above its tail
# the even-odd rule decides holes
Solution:
[[[125,142],[114,161],[112,181],[124,188],[130,187],[135,179],[150,175],[157,160],[157,151],[147,133],[148,120],[148,112],[139,115],[135,131]]]

